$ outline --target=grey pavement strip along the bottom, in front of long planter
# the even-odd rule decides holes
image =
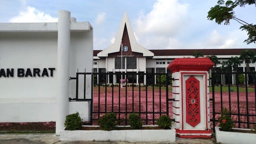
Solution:
[[[59,137],[48,133],[34,134],[0,134],[0,144],[216,144],[215,139],[176,138],[176,142],[92,142],[92,141],[59,141]]]

